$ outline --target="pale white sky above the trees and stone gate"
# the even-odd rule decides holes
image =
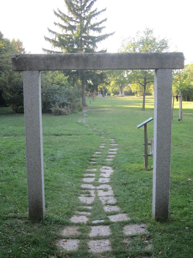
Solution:
[[[43,53],[41,48],[51,49],[43,38],[51,37],[47,27],[58,31],[53,25],[57,21],[53,9],[57,7],[67,14],[63,0],[6,0],[0,5],[0,31],[5,38],[19,38],[31,54]],[[124,38],[134,37],[145,27],[154,29],[156,37],[170,39],[170,51],[183,52],[185,64],[193,62],[193,4],[190,0],[98,0],[98,10],[107,7],[104,33],[116,32],[104,40],[98,50],[107,48],[117,52]],[[102,19],[100,16],[98,19]]]

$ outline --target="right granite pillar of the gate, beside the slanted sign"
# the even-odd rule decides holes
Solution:
[[[157,69],[154,76],[153,217],[167,219],[170,198],[172,70]]]

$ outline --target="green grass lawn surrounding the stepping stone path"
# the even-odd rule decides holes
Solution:
[[[28,220],[23,114],[13,115],[9,108],[0,108],[0,257],[193,257],[193,102],[183,102],[180,122],[179,102],[174,105],[170,218],[165,222],[152,219],[153,162],[150,157],[149,170],[143,169],[144,129],[137,129],[138,124],[154,117],[153,103],[153,97],[147,96],[146,111],[141,111],[142,97],[96,97],[87,108],[88,116],[43,114],[46,218],[40,223]],[[82,177],[101,141],[100,134],[77,122],[84,118],[91,128],[104,130],[118,142],[118,153],[110,163],[115,169],[111,176],[114,195],[121,212],[131,218],[129,223],[148,224],[153,249],[144,249],[142,235],[130,237],[129,245],[123,243],[121,229],[125,222],[110,225],[111,252],[88,253],[84,242],[88,226],[80,229],[83,240],[79,251],[62,253],[57,247],[59,230],[71,224],[69,218],[80,205]],[[149,137],[152,136],[150,122]],[[97,166],[103,162],[100,157]],[[93,213],[93,219],[94,216]]]

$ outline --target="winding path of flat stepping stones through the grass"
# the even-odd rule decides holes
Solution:
[[[84,110],[83,112],[87,112]],[[84,114],[86,115],[86,114]],[[79,119],[78,123],[83,123],[85,126],[86,118]],[[70,218],[71,225],[66,226],[60,231],[60,235],[63,239],[59,240],[58,245],[61,249],[66,251],[78,251],[81,238],[78,236],[81,234],[79,227],[81,225],[87,225],[90,227],[90,231],[87,235],[87,248],[90,253],[103,253],[112,250],[112,232],[111,224],[124,223],[122,232],[125,237],[137,234],[146,234],[146,224],[129,224],[131,218],[126,213],[121,213],[121,208],[117,204],[117,200],[114,197],[114,192],[111,182],[111,175],[114,173],[114,169],[108,165],[110,164],[117,154],[118,143],[116,139],[110,138],[106,132],[97,128],[88,128],[101,138],[98,146],[98,150],[92,154],[91,161],[89,161],[89,167],[85,169],[81,183],[80,196],[78,196],[80,205],[76,208],[75,214]],[[107,150],[108,149],[108,150]],[[98,159],[103,159],[103,165],[98,164]],[[95,167],[94,167],[95,166]],[[94,168],[93,168],[94,167]],[[106,214],[105,219],[101,219],[100,213],[96,220],[92,220],[92,210],[96,210],[95,199],[100,200],[101,206]],[[126,222],[128,221],[128,224]],[[107,224],[103,225],[103,224]],[[92,226],[93,225],[93,226]],[[149,235],[148,235],[149,236]],[[94,239],[92,239],[94,238]],[[98,238],[98,239],[97,239]],[[104,238],[104,239],[103,239]],[[123,243],[128,244],[128,238],[122,240]],[[145,242],[150,242],[150,239]],[[144,243],[145,250],[151,250],[152,244]]]

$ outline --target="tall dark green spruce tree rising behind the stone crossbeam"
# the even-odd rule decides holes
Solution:
[[[56,17],[61,20],[61,23],[54,22],[55,26],[61,29],[61,33],[55,32],[48,28],[49,33],[53,38],[44,37],[55,48],[60,51],[43,50],[47,53],[93,53],[96,51],[97,43],[105,40],[110,34],[102,34],[105,26],[102,24],[106,21],[102,19],[97,21],[98,15],[104,13],[105,9],[98,11],[93,9],[93,5],[97,0],[64,0],[68,13],[65,14],[59,9],[54,11]],[[102,50],[100,52],[106,52]],[[77,71],[77,75],[81,80],[82,85],[82,105],[86,106],[85,85],[91,79],[93,73]]]

